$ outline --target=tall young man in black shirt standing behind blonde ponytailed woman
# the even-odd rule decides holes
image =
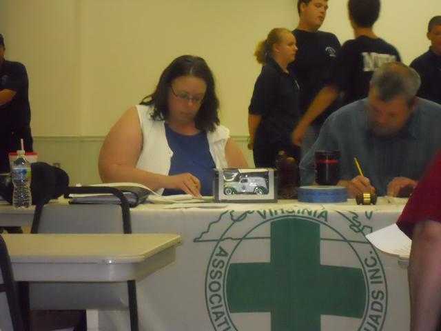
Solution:
[[[302,114],[305,114],[314,97],[325,87],[341,48],[335,34],[318,30],[325,21],[327,9],[327,0],[298,0],[297,3],[299,22],[293,33],[298,51],[296,61],[290,63],[288,68],[294,70],[300,86]],[[316,141],[323,122],[338,106],[338,100],[334,101],[307,128],[302,141],[302,156]]]

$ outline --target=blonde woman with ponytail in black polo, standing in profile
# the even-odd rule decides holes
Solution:
[[[263,64],[248,108],[249,149],[258,168],[274,168],[278,152],[298,162],[300,149],[291,143],[291,131],[300,119],[299,87],[288,64],[296,58],[296,37],[275,28],[258,43],[254,55]]]

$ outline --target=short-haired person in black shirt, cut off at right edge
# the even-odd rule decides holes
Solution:
[[[441,16],[429,21],[427,39],[431,41],[429,50],[414,59],[411,68],[421,77],[418,97],[441,103]]]

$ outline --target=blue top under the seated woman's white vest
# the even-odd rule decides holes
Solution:
[[[201,181],[201,194],[213,195],[213,168],[216,168],[212,154],[209,152],[207,134],[203,131],[188,136],[174,132],[167,123],[165,136],[173,151],[168,174],[189,172]],[[163,195],[183,194],[182,190],[166,188]]]

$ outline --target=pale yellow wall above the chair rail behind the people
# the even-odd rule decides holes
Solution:
[[[352,38],[347,1],[329,6],[323,30]],[[440,0],[384,0],[376,32],[409,63],[429,46],[425,29],[435,14]],[[105,135],[185,53],[205,57],[222,122],[247,135],[260,70],[254,47],[270,28],[297,21],[294,0],[0,0],[7,57],[28,68],[32,130],[40,137]]]

